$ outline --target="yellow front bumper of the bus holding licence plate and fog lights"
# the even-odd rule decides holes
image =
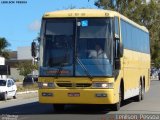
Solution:
[[[39,102],[49,104],[114,104],[113,89],[39,89]]]

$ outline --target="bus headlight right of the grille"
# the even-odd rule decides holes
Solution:
[[[113,83],[108,82],[95,82],[92,83],[93,88],[113,88]]]

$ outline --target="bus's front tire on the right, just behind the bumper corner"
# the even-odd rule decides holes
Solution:
[[[119,102],[117,102],[116,104],[114,104],[112,106],[113,111],[119,111],[121,108],[121,104],[122,104],[122,91],[121,88],[119,90]]]

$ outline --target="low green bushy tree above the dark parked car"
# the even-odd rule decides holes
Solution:
[[[38,66],[33,65],[30,61],[26,62],[20,62],[17,65],[17,70],[19,70],[19,74],[22,76],[27,76],[28,74],[31,74],[33,70],[37,70]]]

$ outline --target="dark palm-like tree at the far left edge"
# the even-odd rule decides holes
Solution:
[[[10,44],[5,38],[0,37],[0,56],[9,58],[9,50],[7,50],[7,47],[9,47]]]

